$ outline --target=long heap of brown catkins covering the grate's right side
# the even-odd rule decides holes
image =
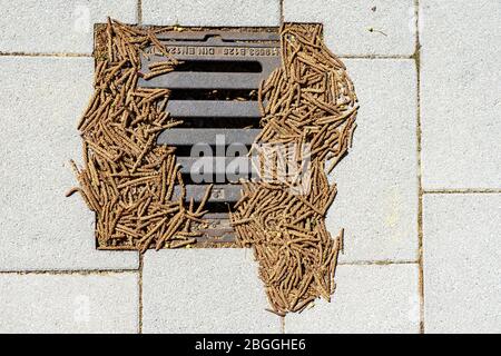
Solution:
[[[266,177],[244,182],[232,214],[239,244],[254,248],[272,312],[278,315],[302,312],[317,297],[330,300],[343,248],[343,230],[333,239],[325,228],[336,195],[326,171],[351,146],[358,106],[344,65],[325,47],[321,32],[320,24],[286,23],[281,29],[282,67],[258,93],[263,131],[255,145],[268,147],[257,156]],[[276,160],[269,164],[269,156],[275,147],[289,145],[307,152],[293,157],[298,165],[307,158],[299,180],[279,168],[263,169],[279,167]]]

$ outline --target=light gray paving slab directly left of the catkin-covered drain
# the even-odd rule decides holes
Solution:
[[[137,268],[136,253],[96,250],[94,214],[65,197],[94,60],[7,56],[0,66],[0,270]]]

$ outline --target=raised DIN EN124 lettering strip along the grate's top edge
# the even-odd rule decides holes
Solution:
[[[277,57],[277,47],[193,47],[167,46],[167,51],[173,56],[215,56],[215,57]]]

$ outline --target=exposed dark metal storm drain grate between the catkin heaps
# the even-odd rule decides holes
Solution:
[[[183,120],[161,132],[157,145],[176,148],[187,201],[199,202],[213,184],[204,216],[208,227],[200,226],[198,243],[233,243],[228,210],[240,198],[238,179],[252,174],[246,152],[261,131],[257,91],[281,65],[278,29],[188,29],[157,38],[181,63],[169,73],[139,79],[138,86],[170,89],[166,110]],[[164,60],[151,48],[141,56],[141,68]]]

